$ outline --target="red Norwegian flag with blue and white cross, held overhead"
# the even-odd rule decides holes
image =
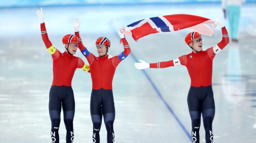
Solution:
[[[133,39],[137,41],[139,38],[149,34],[171,32],[185,28],[212,36],[216,26],[208,18],[188,14],[175,14],[143,19],[119,29],[125,35],[132,35]]]

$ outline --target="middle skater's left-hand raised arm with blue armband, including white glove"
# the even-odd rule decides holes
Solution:
[[[78,19],[75,19],[73,21],[73,27],[74,27],[75,35],[79,38],[78,48],[80,49],[82,54],[86,57],[89,64],[91,64],[93,62],[93,60],[95,59],[95,56],[91,52],[89,52],[87,50],[87,48],[83,45],[83,42],[82,42],[82,39],[81,39],[80,33],[79,33],[80,22]]]

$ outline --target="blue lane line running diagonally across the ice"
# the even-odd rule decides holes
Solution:
[[[114,26],[110,23],[109,26],[111,27],[113,33],[115,34],[115,36],[117,38],[119,38],[119,35],[117,34]],[[132,56],[132,58],[134,59],[135,62],[138,62],[139,60],[135,57],[135,55],[133,54],[133,52],[130,53],[130,55]],[[153,86],[154,90],[156,91],[157,95],[159,96],[159,98],[164,102],[165,106],[168,108],[168,110],[171,112],[171,114],[173,115],[173,117],[175,118],[175,120],[179,123],[180,127],[183,129],[183,131],[186,133],[186,135],[188,136],[188,138],[192,141],[191,135],[190,133],[186,130],[186,128],[184,127],[184,125],[181,123],[180,119],[176,116],[176,114],[173,112],[172,108],[166,103],[166,101],[164,100],[163,96],[161,95],[161,93],[159,92],[159,90],[157,89],[157,87],[155,86],[155,84],[152,82],[151,78],[148,76],[148,74],[146,73],[145,70],[141,70],[143,72],[143,74],[147,77],[148,81],[151,83],[151,85]]]

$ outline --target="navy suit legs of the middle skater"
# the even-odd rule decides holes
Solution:
[[[93,143],[100,142],[100,127],[102,115],[107,129],[107,143],[114,143],[115,134],[113,123],[115,120],[115,105],[112,90],[92,90],[90,102],[91,118],[93,123]]]

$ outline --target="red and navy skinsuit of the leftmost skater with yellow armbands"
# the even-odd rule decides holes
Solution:
[[[57,50],[48,38],[44,23],[41,24],[41,35],[53,59],[53,81],[49,94],[49,114],[52,124],[51,140],[52,143],[59,143],[58,130],[62,106],[67,130],[66,143],[71,143],[74,140],[73,119],[75,113],[75,100],[71,81],[77,68],[88,71],[89,66],[84,64],[81,58],[67,52],[61,53]]]

